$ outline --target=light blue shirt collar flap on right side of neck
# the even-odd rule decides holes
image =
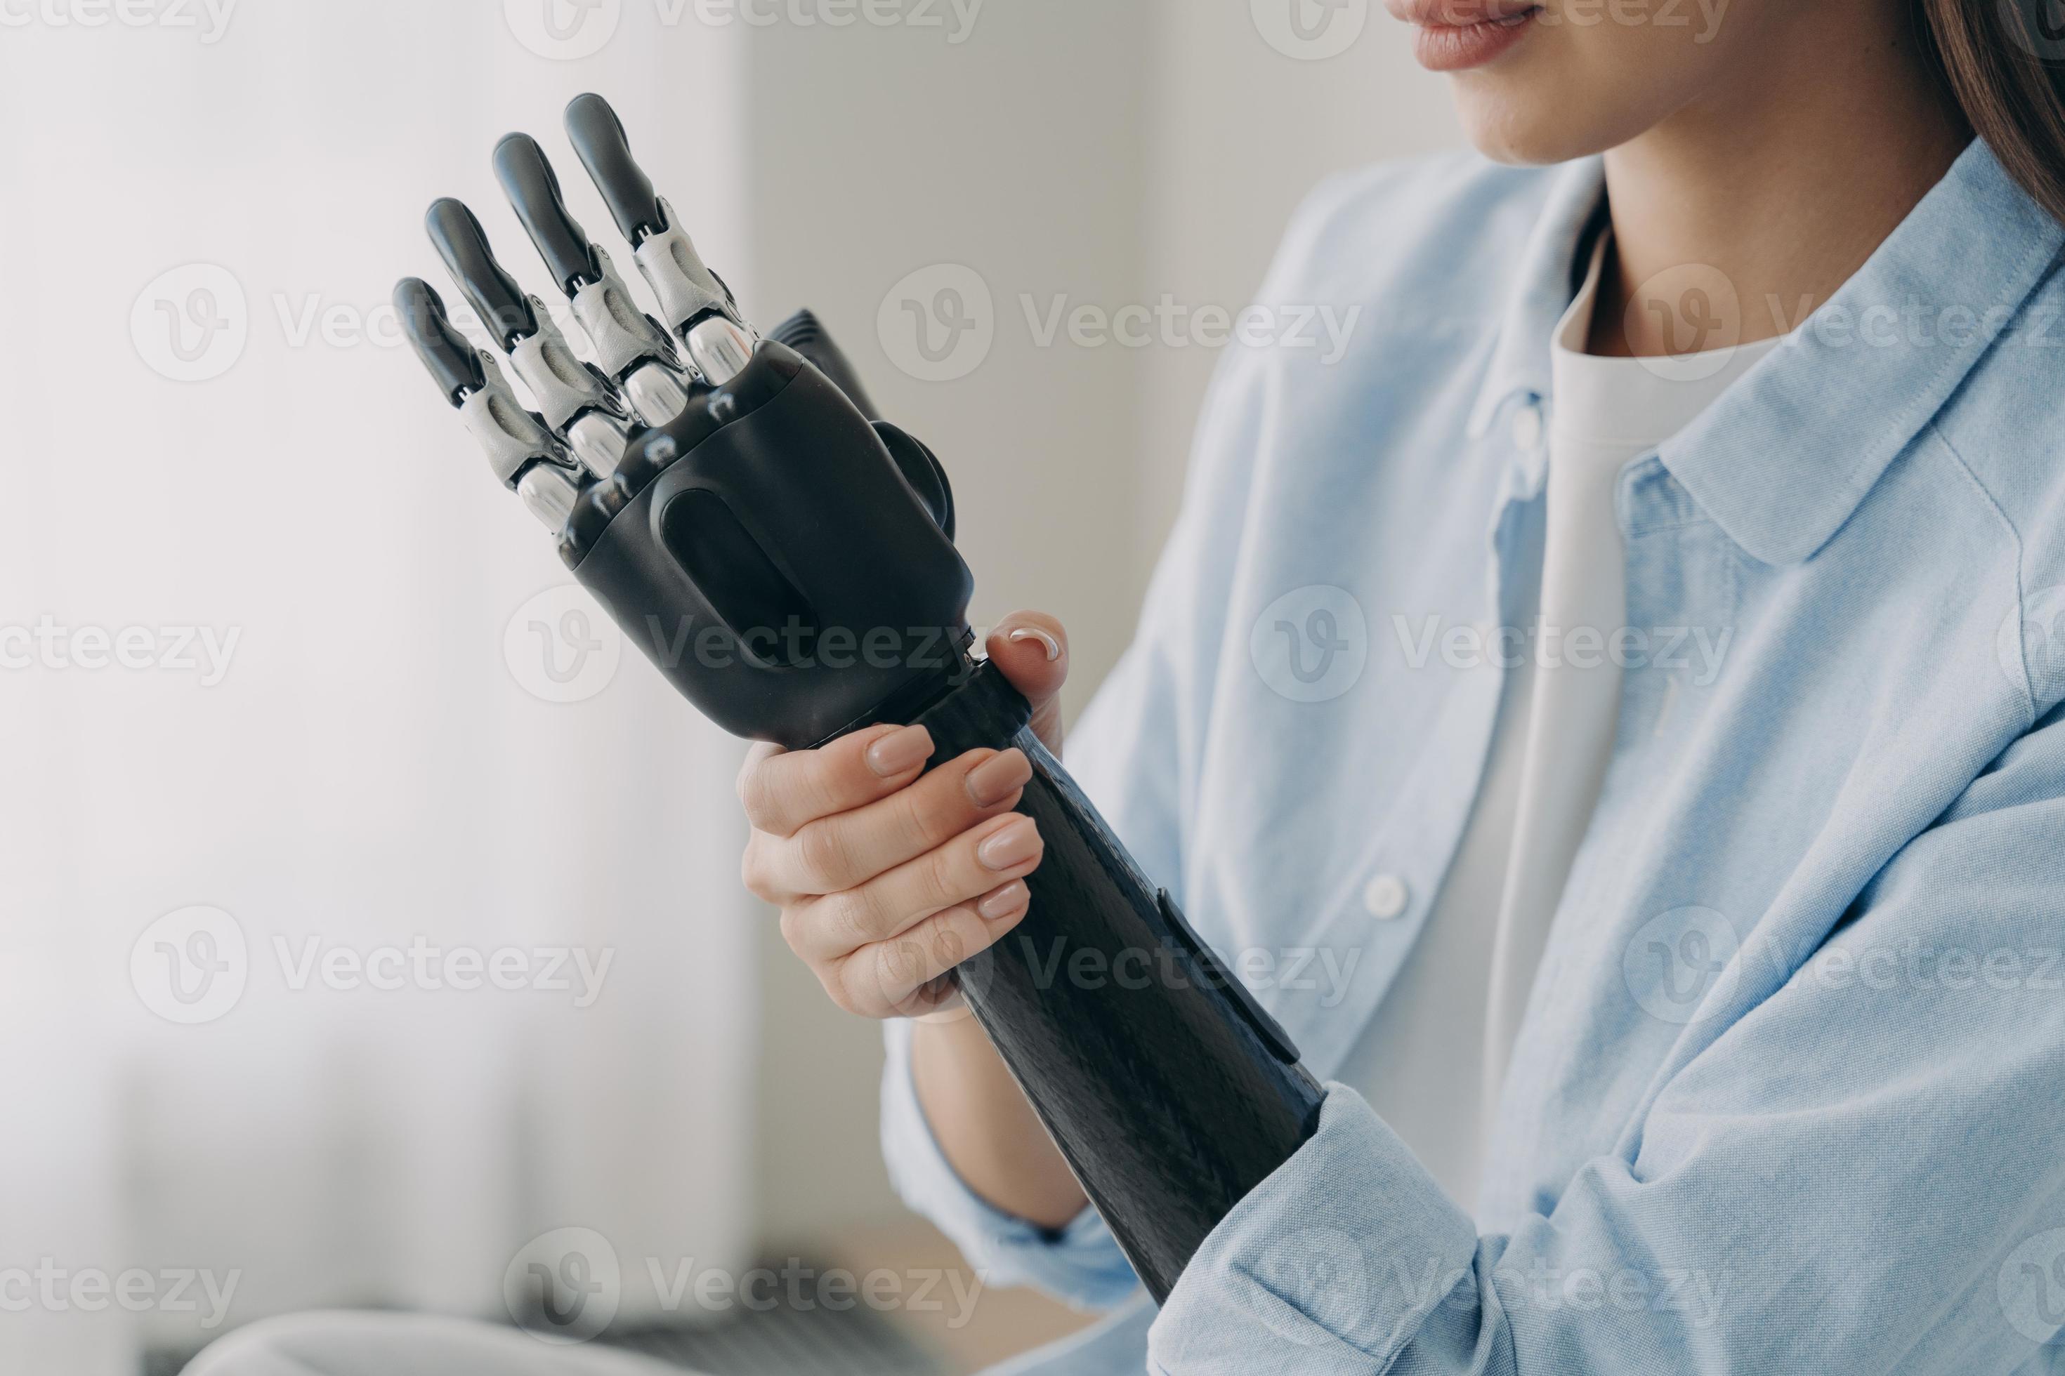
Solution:
[[[1865,266],[1658,458],[1764,563],[1825,545],[2048,272],[2065,227],[1974,140]]]

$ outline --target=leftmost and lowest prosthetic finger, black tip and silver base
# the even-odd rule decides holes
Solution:
[[[522,408],[502,367],[485,349],[475,349],[452,328],[444,299],[430,283],[405,276],[394,285],[394,309],[415,357],[430,369],[444,398],[487,454],[487,464],[504,487],[560,530],[589,474],[566,452],[539,417]]]

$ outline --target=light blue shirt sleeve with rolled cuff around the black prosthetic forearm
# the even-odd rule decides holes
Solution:
[[[1161,1376],[2055,1370],[2065,1333],[2065,724],[2018,741],[1625,1151],[1481,1236],[1332,1085],[1150,1333]],[[1759,970],[1757,965],[1764,963]]]

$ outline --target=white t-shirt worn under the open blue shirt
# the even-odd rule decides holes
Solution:
[[[1602,235],[1551,349],[1547,532],[1526,598],[1534,615],[1520,619],[1532,633],[1501,642],[1520,664],[1503,670],[1470,825],[1427,928],[1338,1073],[1464,1207],[1549,920],[1613,755],[1621,668],[1607,648],[1627,619],[1613,507],[1621,470],[1778,345],[1683,359],[1584,353],[1607,248]]]

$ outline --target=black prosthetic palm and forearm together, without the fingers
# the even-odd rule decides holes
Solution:
[[[793,322],[791,322],[793,324]],[[812,328],[632,446],[562,540],[574,576],[733,734],[820,745],[923,722],[931,763],[1018,747],[1030,912],[956,978],[1142,1283],[1165,1300],[1222,1217],[1311,1137],[1297,1048],[1140,873],[1030,703],[968,658],[973,578],[925,446],[869,423]],[[865,404],[865,402],[863,402]],[[873,650],[869,650],[873,646]]]

